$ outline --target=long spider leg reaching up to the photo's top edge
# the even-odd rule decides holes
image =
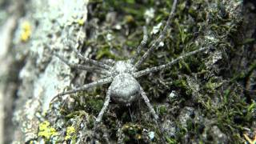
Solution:
[[[162,42],[164,36],[166,35],[166,31],[167,31],[168,27],[170,26],[170,19],[174,17],[174,11],[176,9],[176,5],[177,5],[177,0],[174,0],[173,6],[171,8],[169,17],[168,17],[167,22],[166,22],[166,26],[163,28],[163,30],[162,30],[161,34],[159,35],[158,39],[156,39],[156,41],[150,46],[150,49],[148,49],[146,51],[146,53],[142,55],[142,58],[140,58],[138,60],[138,62],[135,63],[135,65],[134,65],[135,69],[138,68],[138,66],[142,65],[142,63],[146,60],[146,58],[149,57],[149,55],[152,53],[152,51],[154,49],[159,47],[160,42]]]

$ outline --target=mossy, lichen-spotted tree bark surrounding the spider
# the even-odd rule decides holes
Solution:
[[[50,103],[56,94],[101,79],[100,73],[91,72],[93,67],[84,67],[90,68],[86,72],[66,65],[86,64],[73,49],[105,63],[134,54],[142,57],[162,31],[172,2],[0,0],[0,143],[91,142],[109,84]],[[164,138],[168,143],[242,143],[253,139],[255,16],[253,1],[179,0],[170,28],[159,42],[162,46],[138,70],[161,66],[203,47],[210,50],[181,58],[166,70],[145,70],[147,75],[137,78],[153,105],[151,111],[159,116],[159,126],[142,98],[130,107],[110,101],[96,141],[160,143]],[[136,54],[143,33],[147,43]]]

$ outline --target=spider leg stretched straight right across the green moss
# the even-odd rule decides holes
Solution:
[[[189,57],[189,56],[194,55],[194,54],[198,54],[199,52],[202,52],[204,50],[209,50],[209,49],[210,49],[209,47],[203,47],[203,48],[200,48],[198,50],[191,51],[191,52],[189,52],[187,54],[184,54],[184,55],[182,55],[182,56],[174,59],[173,61],[164,64],[164,65],[154,66],[154,67],[151,67],[151,68],[147,68],[145,70],[138,71],[138,72],[134,73],[134,77],[138,78],[138,77],[141,77],[142,75],[154,73],[154,72],[156,72],[158,70],[168,69],[168,68],[170,68],[170,66],[178,63],[180,60],[182,60],[182,59],[184,59],[186,57]]]

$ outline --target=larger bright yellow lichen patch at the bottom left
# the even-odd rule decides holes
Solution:
[[[46,139],[49,139],[51,136],[58,135],[58,132],[50,126],[50,122],[45,121],[39,124],[38,136],[42,136]]]

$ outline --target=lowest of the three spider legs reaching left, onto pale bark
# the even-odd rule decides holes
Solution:
[[[87,90],[90,87],[94,87],[94,86],[102,86],[102,85],[104,85],[106,83],[112,82],[112,80],[113,80],[112,77],[103,78],[103,79],[100,79],[98,81],[88,83],[88,84],[86,84],[84,86],[80,86],[80,87],[78,87],[78,88],[76,88],[74,90],[63,91],[62,93],[59,93],[59,94],[55,95],[54,98],[52,98],[51,102],[53,102],[54,99],[61,97],[62,95],[74,94],[74,93],[77,93],[79,91]]]

